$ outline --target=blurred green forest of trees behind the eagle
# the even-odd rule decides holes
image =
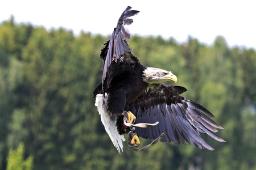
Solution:
[[[102,29],[104,29],[102,27]],[[189,29],[189,28],[188,28]],[[171,70],[184,94],[224,127],[215,151],[158,143],[119,154],[94,106],[101,82],[101,45],[108,37],[64,28],[0,23],[0,169],[10,150],[24,143],[33,169],[256,169],[256,51],[230,48],[218,36],[212,45],[162,37],[131,36],[143,65]],[[126,137],[127,138],[127,137]],[[141,147],[150,143],[141,139]]]

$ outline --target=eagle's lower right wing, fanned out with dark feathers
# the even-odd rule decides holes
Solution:
[[[187,90],[180,86],[152,84],[135,103],[134,114],[137,117],[136,123],[152,124],[159,121],[159,124],[150,128],[136,128],[136,132],[146,139],[156,139],[164,133],[166,135],[162,142],[179,145],[187,141],[190,144],[193,142],[198,148],[213,150],[199,132],[206,133],[219,142],[225,142],[213,133],[217,132],[214,128],[223,128],[209,118],[214,116],[207,109],[195,101],[179,96],[185,91]]]

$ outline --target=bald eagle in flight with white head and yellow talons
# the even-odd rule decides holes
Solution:
[[[102,124],[114,146],[120,152],[123,134],[129,133],[129,146],[137,147],[139,138],[156,139],[165,136],[162,142],[194,143],[196,147],[214,150],[201,138],[206,133],[219,142],[216,129],[223,129],[209,117],[214,117],[207,109],[195,101],[180,96],[185,87],[164,85],[166,81],[177,81],[171,71],[144,66],[131,52],[126,40],[130,34],[124,25],[133,23],[130,16],[139,11],[128,6],[118,20],[109,40],[101,49],[100,58],[104,61],[102,81],[93,92],[96,106],[101,114]],[[158,125],[150,128],[131,128],[125,123],[148,123]],[[213,133],[214,132],[214,133]]]

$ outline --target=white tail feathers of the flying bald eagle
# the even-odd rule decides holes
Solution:
[[[108,95],[105,94],[105,97],[102,94],[97,94],[95,106],[98,108],[98,113],[101,115],[101,122],[105,127],[106,133],[109,134],[113,145],[117,148],[117,151],[120,153],[120,148],[123,151],[123,142],[125,141],[124,135],[119,135],[117,127],[115,126],[115,120],[110,118],[110,113],[106,112],[104,100],[106,101]]]

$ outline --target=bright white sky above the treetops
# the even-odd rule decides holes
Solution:
[[[131,34],[161,35],[184,42],[188,35],[212,44],[217,35],[230,46],[256,48],[256,1],[175,0],[175,1],[0,1],[0,22],[14,15],[15,21],[44,25],[47,29],[65,27],[75,35],[85,32],[109,35],[127,6],[139,10]]]

